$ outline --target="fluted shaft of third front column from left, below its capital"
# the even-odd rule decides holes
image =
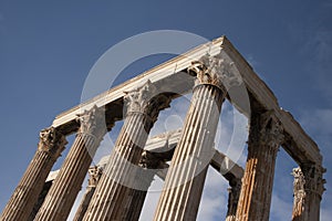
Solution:
[[[147,139],[147,133],[142,127],[144,124],[146,125],[146,117],[143,114],[126,117],[115,149],[83,220],[117,220],[116,217],[125,208],[127,200],[125,196],[129,192],[127,186],[134,182],[133,165],[138,165],[143,150],[142,145],[136,144],[138,140],[132,140],[132,137],[139,137],[141,144]]]

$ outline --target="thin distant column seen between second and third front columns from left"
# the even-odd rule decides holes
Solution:
[[[87,207],[95,191],[95,188],[100,181],[100,178],[102,177],[102,173],[103,173],[103,169],[98,166],[94,166],[89,169],[89,185],[86,187],[85,193],[83,196],[83,199],[81,201],[81,204],[76,211],[73,221],[83,220],[83,217],[87,210]]]

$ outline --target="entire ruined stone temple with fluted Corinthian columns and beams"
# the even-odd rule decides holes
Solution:
[[[183,128],[149,138],[158,114],[189,93]],[[214,146],[226,99],[249,119],[246,168]],[[92,167],[104,135],[122,119],[111,156]],[[50,175],[74,133],[61,169]],[[58,115],[41,130],[1,221],[65,221],[86,173],[75,221],[138,220],[154,176],[165,180],[154,220],[196,220],[209,166],[229,181],[227,221],[269,220],[280,147],[299,165],[292,171],[292,220],[318,221],[325,182],[319,147],[221,36]]]

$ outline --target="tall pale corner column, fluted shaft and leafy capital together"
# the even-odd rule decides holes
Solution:
[[[193,62],[197,75],[184,129],[172,158],[155,221],[196,220],[227,90],[239,84],[234,63],[205,55]]]

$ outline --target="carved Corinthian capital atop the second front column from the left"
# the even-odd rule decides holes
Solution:
[[[93,135],[102,138],[106,133],[105,112],[103,108],[94,105],[90,110],[84,110],[77,115],[80,123],[79,133]]]

